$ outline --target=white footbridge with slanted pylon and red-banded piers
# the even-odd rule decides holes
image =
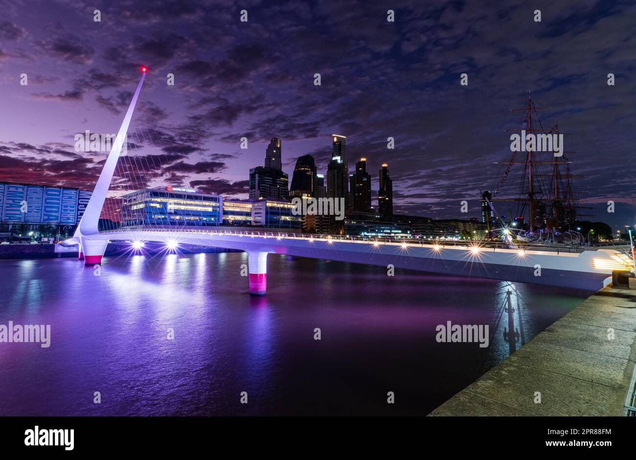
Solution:
[[[390,239],[370,240],[329,235],[239,232],[222,230],[222,227],[120,228],[100,232],[100,213],[145,77],[144,67],[137,90],[78,228],[73,238],[64,242],[79,244],[80,258],[85,259],[86,265],[101,263],[109,241],[130,241],[131,244],[163,242],[172,249],[179,244],[239,249],[247,252],[250,293],[255,295],[265,294],[267,254],[272,253],[382,265],[389,270],[392,266],[438,274],[532,282],[594,291],[603,286],[613,269],[628,268],[625,256],[614,249],[581,250],[546,246],[521,248],[499,244],[480,246],[441,242],[429,244],[420,240],[396,242]],[[134,171],[134,178],[137,179],[144,173],[146,171]]]

